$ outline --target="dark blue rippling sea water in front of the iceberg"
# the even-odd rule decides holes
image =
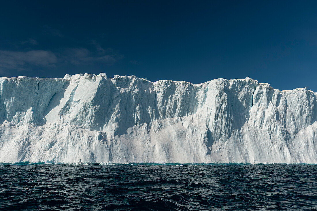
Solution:
[[[317,210],[317,165],[0,165],[0,210]]]

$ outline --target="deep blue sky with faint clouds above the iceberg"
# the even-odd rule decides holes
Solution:
[[[317,92],[317,1],[1,1],[0,76],[246,78]]]

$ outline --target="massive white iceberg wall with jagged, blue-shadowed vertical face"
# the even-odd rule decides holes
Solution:
[[[317,163],[306,88],[104,73],[0,83],[0,162]]]

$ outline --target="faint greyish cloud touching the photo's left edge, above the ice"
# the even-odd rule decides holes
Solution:
[[[52,66],[57,63],[58,58],[51,51],[30,50],[9,51],[0,50],[0,72],[8,69],[25,70],[28,66]]]

